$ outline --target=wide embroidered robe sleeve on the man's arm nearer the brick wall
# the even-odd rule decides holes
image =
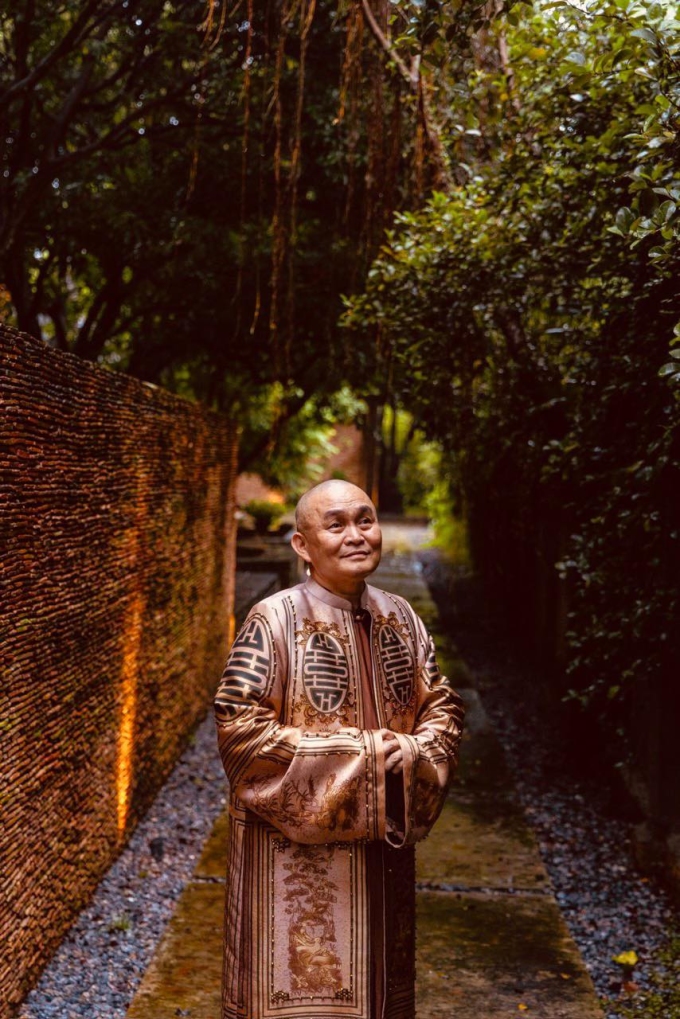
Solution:
[[[384,839],[384,750],[379,732],[313,733],[282,725],[289,676],[275,605],[249,613],[215,695],[220,755],[232,804],[293,842]]]

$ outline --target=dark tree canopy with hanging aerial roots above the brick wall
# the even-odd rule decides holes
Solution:
[[[360,378],[338,294],[444,172],[427,60],[482,6],[461,28],[446,5],[387,0],[10,3],[0,278],[16,323],[208,401]]]

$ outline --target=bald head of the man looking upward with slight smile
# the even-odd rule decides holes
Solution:
[[[380,561],[382,534],[375,506],[349,481],[323,481],[296,508],[293,547],[309,564],[314,580],[352,598]]]

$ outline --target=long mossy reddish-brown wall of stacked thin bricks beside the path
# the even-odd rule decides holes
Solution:
[[[0,326],[0,1007],[205,712],[233,603],[226,419]]]

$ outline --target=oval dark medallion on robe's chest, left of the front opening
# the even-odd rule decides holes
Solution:
[[[337,711],[350,688],[347,637],[334,623],[304,621],[298,640],[304,641],[302,678],[310,704],[322,714]]]

